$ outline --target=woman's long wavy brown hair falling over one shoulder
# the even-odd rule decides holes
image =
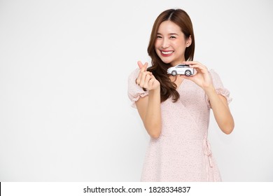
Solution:
[[[160,24],[166,20],[174,22],[181,28],[185,38],[192,38],[191,45],[186,48],[185,59],[193,60],[195,54],[195,36],[193,34],[193,24],[186,11],[181,9],[169,9],[162,12],[153,24],[151,32],[151,38],[148,45],[148,55],[151,57],[152,66],[147,70],[151,71],[155,78],[160,82],[160,99],[161,102],[165,102],[169,97],[172,97],[173,102],[177,102],[179,99],[179,92],[176,90],[176,84],[169,79],[167,75],[167,69],[171,67],[171,64],[165,64],[162,62],[158,54],[155,52],[155,41],[158,35],[158,28]]]

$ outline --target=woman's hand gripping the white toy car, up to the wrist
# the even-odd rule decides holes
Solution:
[[[190,68],[194,68],[197,73],[195,73],[193,76],[181,75],[182,78],[193,80],[193,82],[202,87],[204,90],[206,90],[208,87],[214,86],[207,66],[195,61],[187,61],[183,62],[183,64],[190,65]]]

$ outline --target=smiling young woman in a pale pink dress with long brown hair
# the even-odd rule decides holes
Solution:
[[[162,12],[155,20],[148,55],[128,80],[128,95],[151,136],[141,181],[221,181],[207,140],[210,109],[225,134],[234,128],[229,91],[213,70],[193,61],[195,36],[188,14]],[[193,76],[167,74],[177,64]]]

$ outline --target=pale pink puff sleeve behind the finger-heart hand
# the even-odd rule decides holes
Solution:
[[[148,91],[144,91],[142,87],[139,87],[136,83],[137,76],[139,76],[139,68],[132,71],[128,78],[128,97],[132,102],[132,107],[137,108],[136,102],[140,97],[148,95]]]

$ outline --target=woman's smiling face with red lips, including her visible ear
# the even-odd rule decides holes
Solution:
[[[185,50],[190,43],[191,38],[186,39],[178,25],[166,20],[158,28],[155,51],[162,62],[176,66],[185,61]]]

